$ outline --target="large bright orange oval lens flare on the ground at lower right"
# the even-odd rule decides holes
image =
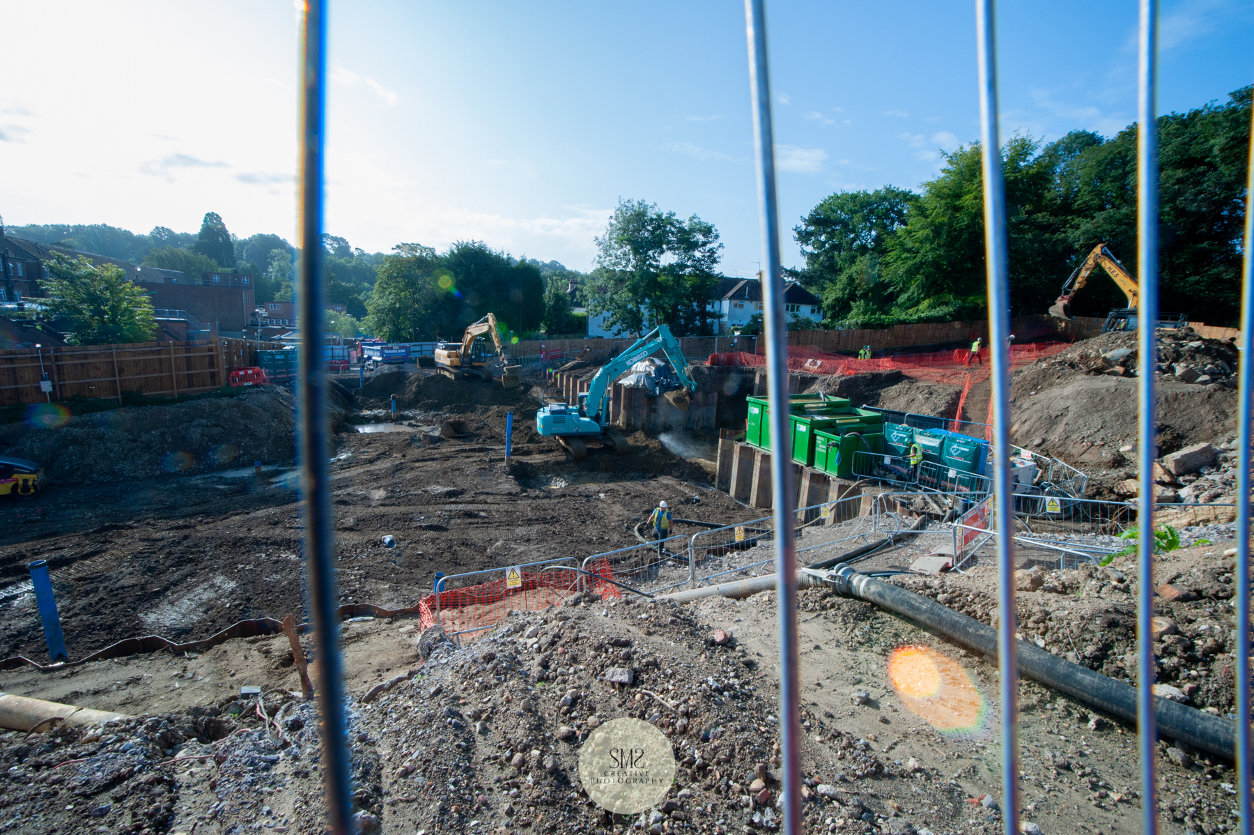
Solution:
[[[942,733],[978,731],[988,720],[988,703],[971,673],[932,647],[894,649],[888,680],[902,705]]]

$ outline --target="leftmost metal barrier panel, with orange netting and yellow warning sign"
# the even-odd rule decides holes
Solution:
[[[490,629],[513,609],[559,603],[581,591],[577,565],[574,557],[561,557],[444,577],[439,591],[420,603],[423,628],[440,626],[460,643],[460,636]]]

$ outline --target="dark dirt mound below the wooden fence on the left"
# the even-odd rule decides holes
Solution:
[[[342,409],[335,411],[342,419]],[[265,386],[238,397],[71,418],[30,430],[5,455],[39,461],[54,483],[127,481],[290,461],[292,439],[291,392]]]

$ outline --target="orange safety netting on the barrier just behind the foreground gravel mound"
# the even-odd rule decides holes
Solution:
[[[607,560],[594,563],[588,570],[598,575],[593,593],[622,597],[618,587],[599,579],[613,579],[614,573]],[[499,579],[428,594],[418,604],[421,628],[439,623],[450,634],[488,629],[512,611],[539,612],[561,603],[579,588],[579,574],[568,567],[554,565],[548,570],[524,568],[519,573],[522,582],[514,588],[509,587],[503,569]]]

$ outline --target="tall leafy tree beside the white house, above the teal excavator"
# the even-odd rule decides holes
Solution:
[[[696,214],[681,221],[645,201],[619,201],[596,239],[597,268],[587,278],[589,313],[641,333],[665,322],[676,336],[714,332],[709,308],[719,280],[719,232]]]

